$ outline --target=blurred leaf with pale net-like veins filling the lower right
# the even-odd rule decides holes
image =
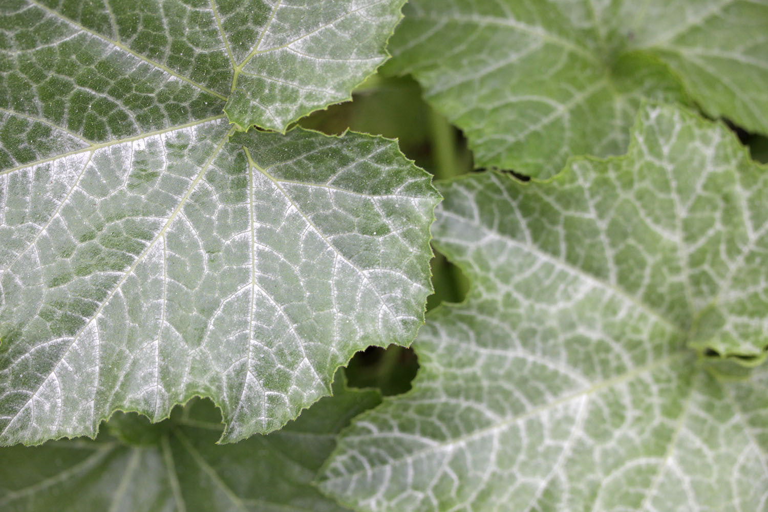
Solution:
[[[429,316],[412,391],[343,432],[323,491],[377,511],[765,510],[768,368],[728,381],[697,352],[764,356],[766,167],[647,107],[626,157],[442,190],[436,246],[473,289]]]

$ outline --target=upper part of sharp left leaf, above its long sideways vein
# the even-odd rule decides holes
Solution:
[[[404,0],[6,0],[0,169],[221,114],[284,131],[386,59]],[[230,97],[231,94],[231,97]]]

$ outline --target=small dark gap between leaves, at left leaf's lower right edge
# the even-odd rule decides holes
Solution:
[[[346,378],[352,388],[379,388],[382,395],[399,395],[411,388],[418,370],[419,358],[412,348],[371,346],[349,361]]]

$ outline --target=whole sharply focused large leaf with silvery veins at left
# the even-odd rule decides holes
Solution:
[[[349,97],[401,5],[2,2],[0,444],[195,394],[234,441],[412,340],[426,173],[392,141],[222,114],[231,91],[230,121],[284,130]]]

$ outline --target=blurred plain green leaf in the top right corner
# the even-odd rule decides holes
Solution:
[[[395,71],[465,130],[480,167],[548,177],[621,154],[643,98],[768,133],[765,0],[412,0]]]

